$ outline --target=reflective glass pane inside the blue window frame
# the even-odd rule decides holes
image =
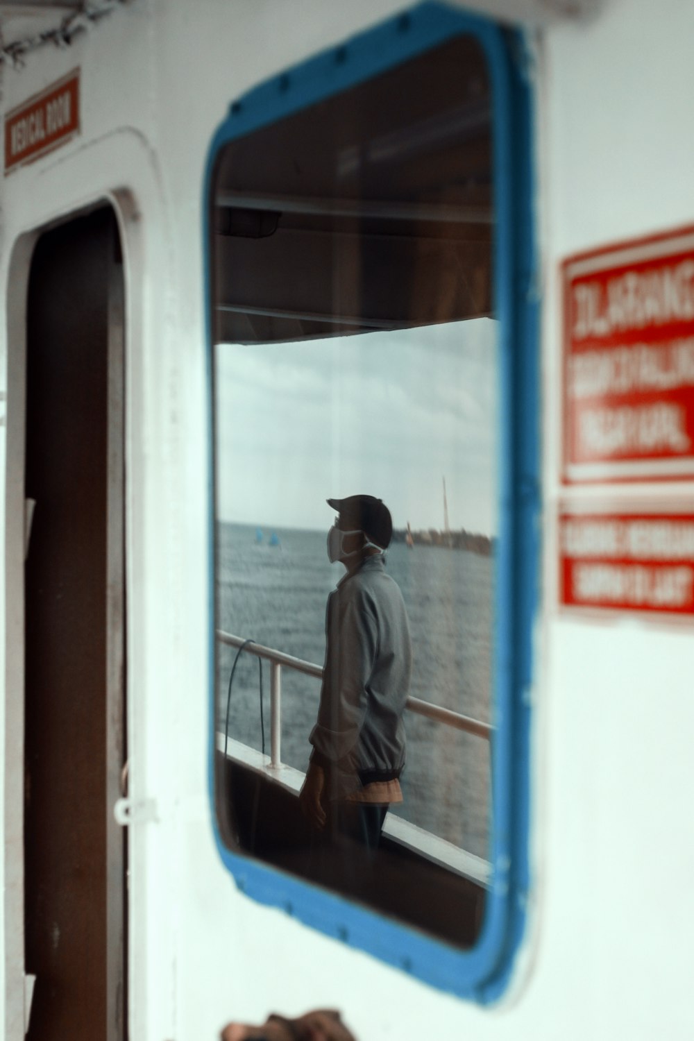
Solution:
[[[490,842],[490,107],[482,51],[460,37],[225,146],[210,214],[223,838],[463,946],[479,931]],[[350,602],[349,639],[336,620],[354,577],[382,568],[388,541],[371,506],[358,525],[354,504],[336,512],[326,502],[355,494],[382,500],[392,518],[385,572],[402,592],[412,651],[402,775],[402,741],[383,721],[391,706],[379,701],[390,680],[384,694],[374,679],[394,668],[404,696],[402,625],[368,590]],[[346,556],[331,564],[336,517]],[[326,605],[338,582],[319,712]],[[340,699],[355,709],[349,726]],[[316,737],[316,719],[329,737]],[[298,798],[312,732],[314,766],[330,779],[324,828]],[[348,760],[370,754],[376,773],[361,769],[348,784],[339,741]],[[379,837],[380,819],[369,829],[385,804]],[[334,834],[342,812],[346,842],[349,828]]]

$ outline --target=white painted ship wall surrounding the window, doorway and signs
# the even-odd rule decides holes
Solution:
[[[113,201],[122,222],[130,794],[154,801],[157,818],[131,826],[130,1037],[199,1041],[231,1017],[253,1021],[271,1010],[332,1006],[361,1041],[676,1041],[694,1027],[694,644],[686,628],[557,613],[558,263],[598,244],[692,222],[690,4],[614,0],[588,21],[558,20],[532,32],[543,266],[543,591],[533,689],[534,888],[507,998],[480,1009],[443,995],[256,905],[236,890],[214,847],[207,787],[204,162],[231,100],[402,6],[136,0],[72,47],[44,48],[27,56],[25,68],[3,72],[4,111],[75,67],[82,77],[80,136],[0,188],[3,296],[23,288],[25,232],[102,197]],[[0,336],[0,389],[11,411],[22,407],[22,388],[7,361],[4,325]],[[4,436],[0,428],[0,449]],[[0,465],[8,479],[21,474],[5,453]],[[656,501],[665,489],[641,490]],[[692,491],[691,484],[678,488]],[[7,530],[17,537],[16,519],[7,519]],[[9,608],[0,623],[17,636],[18,577],[7,580]],[[21,849],[18,697],[8,690],[2,717],[8,854],[0,879],[0,1022],[7,1041],[23,1036],[14,888]]]

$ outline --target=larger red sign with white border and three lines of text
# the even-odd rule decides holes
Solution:
[[[565,482],[694,475],[694,228],[571,257]]]

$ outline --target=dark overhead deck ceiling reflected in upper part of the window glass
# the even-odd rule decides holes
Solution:
[[[213,189],[215,340],[491,314],[491,161],[489,79],[469,37],[229,144]]]

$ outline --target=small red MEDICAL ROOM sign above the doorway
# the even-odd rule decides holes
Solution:
[[[5,174],[65,145],[79,132],[76,69],[5,116]]]

